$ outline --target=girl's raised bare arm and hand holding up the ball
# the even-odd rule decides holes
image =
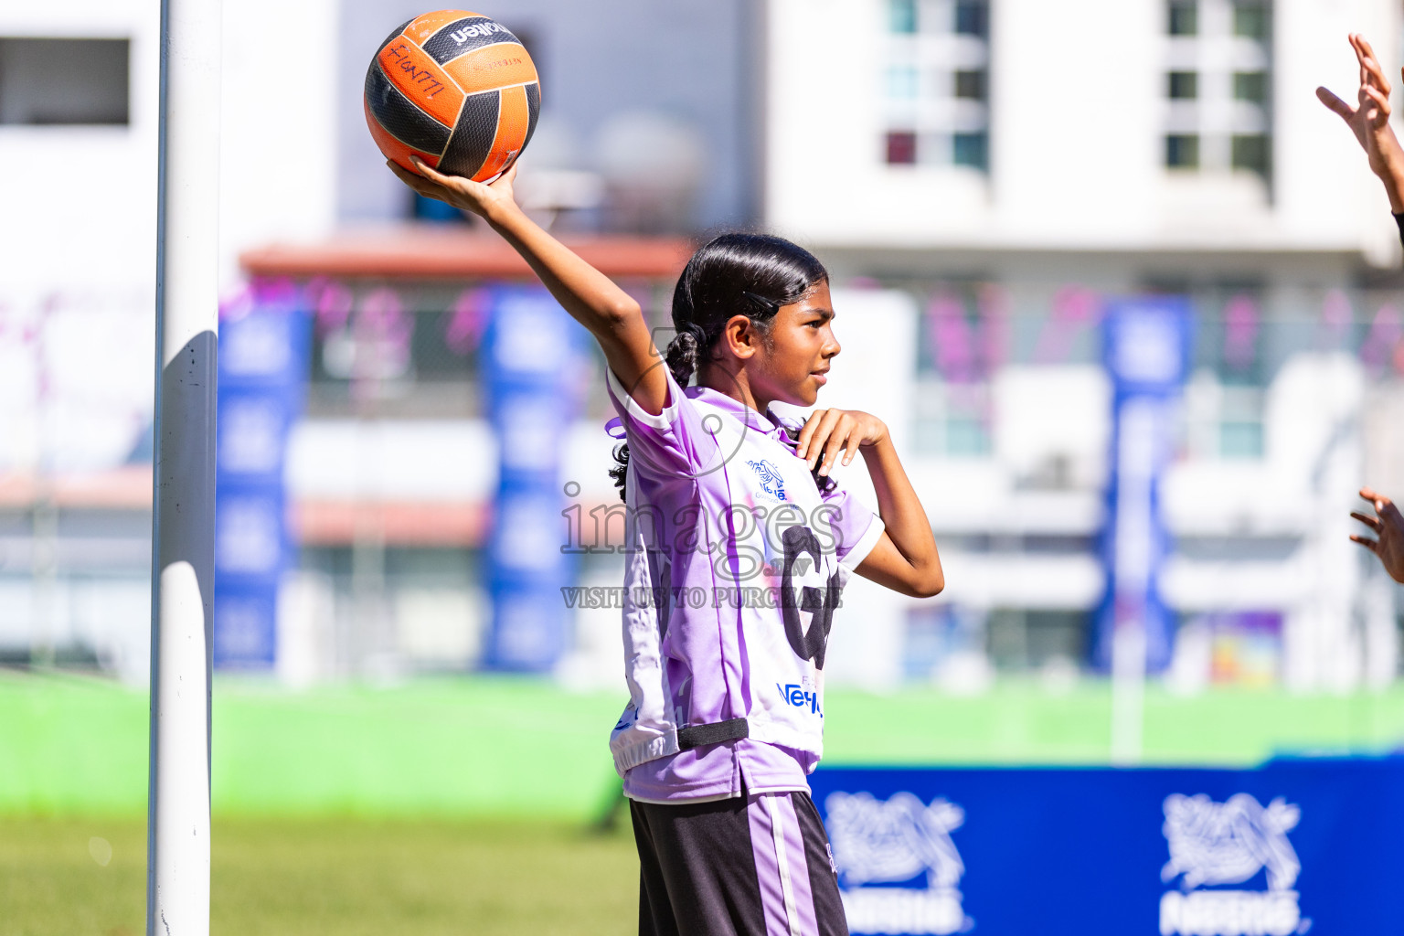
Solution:
[[[665,365],[649,334],[643,310],[629,293],[542,230],[518,208],[512,198],[515,163],[490,185],[461,175],[444,175],[418,159],[414,159],[414,166],[423,175],[390,160],[386,164],[420,195],[483,218],[531,264],[556,302],[595,337],[609,369],[629,387],[635,403],[653,415],[663,411],[670,403]]]

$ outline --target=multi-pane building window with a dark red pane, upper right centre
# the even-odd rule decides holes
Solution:
[[[889,166],[990,166],[988,0],[889,0]]]

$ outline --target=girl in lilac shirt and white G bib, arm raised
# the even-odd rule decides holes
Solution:
[[[483,185],[416,166],[424,177],[390,168],[484,218],[608,362],[632,516],[630,697],[609,747],[639,846],[640,935],[845,936],[806,780],[833,610],[851,571],[913,596],[945,580],[878,417],[816,410],[800,428],[769,411],[813,406],[827,382],[840,351],[828,275],[778,237],[717,237],[674,290],[664,365],[639,305],[521,212],[515,167]],[[855,455],[879,516],[828,477]]]

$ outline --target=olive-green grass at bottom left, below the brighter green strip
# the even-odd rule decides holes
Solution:
[[[111,845],[100,866],[97,836]],[[531,821],[220,818],[216,936],[608,936],[636,932],[628,829]],[[101,845],[98,855],[104,855]],[[146,825],[0,818],[0,936],[138,936]]]

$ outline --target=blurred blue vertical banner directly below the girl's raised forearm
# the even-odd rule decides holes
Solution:
[[[498,439],[498,481],[487,546],[493,624],[489,669],[549,672],[566,653],[560,466],[574,418],[580,330],[541,286],[490,292],[483,376]]]

